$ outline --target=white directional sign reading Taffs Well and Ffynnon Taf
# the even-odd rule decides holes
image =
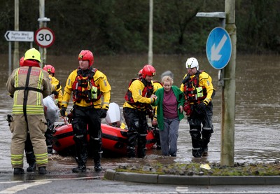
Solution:
[[[4,35],[7,41],[33,42],[34,32],[29,31],[7,31]]]

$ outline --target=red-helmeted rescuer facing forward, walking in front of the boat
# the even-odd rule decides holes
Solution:
[[[60,113],[65,116],[71,92],[73,92],[73,139],[76,142],[78,167],[72,172],[85,172],[87,162],[87,127],[90,148],[93,153],[94,170],[102,171],[101,120],[106,117],[111,99],[111,85],[101,71],[92,67],[94,57],[90,50],[82,50],[78,55],[80,66],[67,78]],[[103,96],[103,103],[102,103]]]

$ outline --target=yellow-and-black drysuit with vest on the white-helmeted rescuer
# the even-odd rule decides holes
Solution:
[[[205,71],[197,71],[193,76],[186,74],[180,90],[186,95],[184,110],[187,112],[192,137],[193,156],[199,158],[208,153],[208,143],[214,132],[212,124],[212,99],[215,89],[212,78]],[[203,125],[203,126],[202,126]]]

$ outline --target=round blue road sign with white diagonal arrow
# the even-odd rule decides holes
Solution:
[[[222,27],[216,27],[210,32],[206,43],[207,59],[215,69],[223,69],[232,55],[230,35]]]

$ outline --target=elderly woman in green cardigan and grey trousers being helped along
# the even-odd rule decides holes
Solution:
[[[184,117],[185,96],[177,86],[172,84],[173,79],[170,76],[164,76],[162,78],[163,88],[155,92],[158,99],[153,105],[158,106],[158,108],[153,119],[153,125],[158,124],[160,129],[162,155],[176,157],[179,124]]]

